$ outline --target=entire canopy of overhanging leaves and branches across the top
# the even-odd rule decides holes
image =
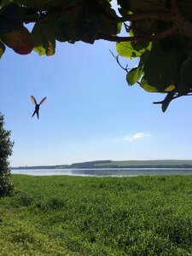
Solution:
[[[166,93],[169,103],[192,93],[192,3],[189,0],[0,0],[0,57],[6,47],[20,55],[54,55],[56,41],[116,42],[119,55],[139,58],[122,67],[129,85]],[[32,24],[32,32],[26,24]]]

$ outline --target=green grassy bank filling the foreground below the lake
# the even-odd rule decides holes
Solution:
[[[12,179],[0,255],[192,255],[192,176]]]

